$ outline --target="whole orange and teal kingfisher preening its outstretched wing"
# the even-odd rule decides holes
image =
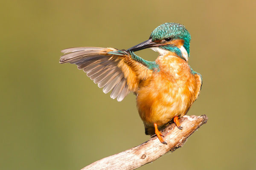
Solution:
[[[186,115],[198,98],[202,76],[188,65],[191,36],[179,23],[164,23],[151,32],[148,40],[128,50],[75,47],[62,50],[60,63],[76,64],[103,92],[122,101],[130,92],[136,95],[137,109],[145,134],[157,135],[167,144],[160,130]],[[134,52],[151,48],[159,53],[154,62]]]

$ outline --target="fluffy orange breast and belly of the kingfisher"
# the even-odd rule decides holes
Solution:
[[[141,83],[137,108],[145,125],[161,126],[175,116],[184,116],[196,99],[198,85],[189,65],[175,56],[160,56],[160,71]]]

